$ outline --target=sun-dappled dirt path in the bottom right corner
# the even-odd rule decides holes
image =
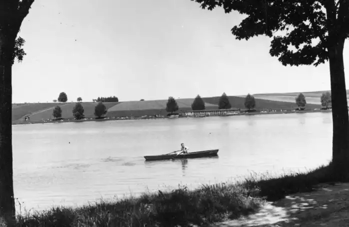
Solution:
[[[320,184],[312,192],[266,202],[253,214],[213,226],[349,226],[349,183]]]

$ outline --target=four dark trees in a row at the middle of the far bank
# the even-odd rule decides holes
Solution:
[[[255,107],[255,99],[253,95],[250,95],[249,93],[245,97],[244,106],[250,110]],[[200,97],[200,95],[197,95],[193,102],[191,103],[191,109],[192,110],[204,110],[206,108],[204,100]],[[225,92],[219,97],[218,100],[218,109],[229,109],[231,108],[231,104],[229,101],[228,96],[225,94]],[[177,101],[174,99],[174,97],[170,96],[168,97],[167,103],[166,103],[166,111],[167,112],[175,112],[178,110],[178,104]]]

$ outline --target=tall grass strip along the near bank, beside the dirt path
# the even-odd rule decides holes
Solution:
[[[55,207],[17,216],[16,226],[203,226],[256,211],[265,200],[308,192],[316,184],[337,181],[332,164],[281,176],[251,174],[236,183],[185,186],[78,208]],[[344,179],[346,180],[346,179]]]

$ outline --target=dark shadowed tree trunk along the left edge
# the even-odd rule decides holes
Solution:
[[[16,35],[0,33],[0,219],[15,221],[12,170],[12,52]]]

